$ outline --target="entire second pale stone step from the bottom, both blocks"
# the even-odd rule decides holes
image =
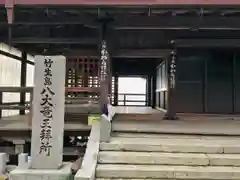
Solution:
[[[153,164],[186,166],[240,166],[237,154],[101,151],[99,164]]]

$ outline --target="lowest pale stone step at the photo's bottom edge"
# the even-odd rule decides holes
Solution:
[[[239,180],[240,167],[99,164],[96,177],[128,179]]]

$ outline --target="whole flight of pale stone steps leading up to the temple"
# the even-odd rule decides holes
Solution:
[[[239,180],[240,136],[113,133],[96,179]]]

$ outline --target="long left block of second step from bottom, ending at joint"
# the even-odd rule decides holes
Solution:
[[[98,162],[100,164],[209,165],[208,157],[198,153],[102,151],[99,153]]]

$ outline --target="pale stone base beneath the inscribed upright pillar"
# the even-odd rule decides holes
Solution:
[[[9,180],[72,180],[72,163],[64,163],[60,169],[16,168],[9,174]]]

